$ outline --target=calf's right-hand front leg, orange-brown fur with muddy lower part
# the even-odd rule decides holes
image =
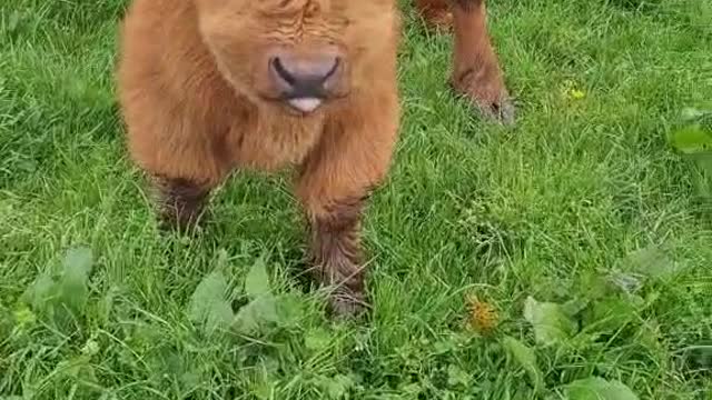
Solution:
[[[310,228],[312,276],[330,289],[334,313],[357,314],[366,306],[362,214],[368,194],[387,173],[398,127],[395,93],[327,124],[301,166],[297,194]]]

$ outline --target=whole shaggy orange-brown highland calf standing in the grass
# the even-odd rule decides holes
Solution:
[[[444,14],[446,0],[419,1]],[[452,0],[455,88],[510,118],[483,0]],[[165,222],[188,227],[238,169],[298,169],[316,279],[364,301],[360,213],[398,131],[395,0],[134,0],[119,97],[135,162]]]

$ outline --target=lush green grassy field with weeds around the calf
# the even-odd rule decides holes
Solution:
[[[0,2],[0,399],[712,398],[709,172],[669,139],[712,100],[711,2],[492,1],[515,128],[451,96],[405,8],[357,322],[297,277],[287,173],[158,234],[113,96],[125,2]]]

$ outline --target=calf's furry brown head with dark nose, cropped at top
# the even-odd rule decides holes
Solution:
[[[194,2],[202,40],[234,89],[299,114],[372,89],[369,74],[395,51],[395,0]]]

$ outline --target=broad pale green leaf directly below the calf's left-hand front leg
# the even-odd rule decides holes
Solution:
[[[207,276],[190,297],[190,320],[201,324],[208,332],[226,328],[233,321],[233,309],[225,299],[227,280],[220,271]]]

